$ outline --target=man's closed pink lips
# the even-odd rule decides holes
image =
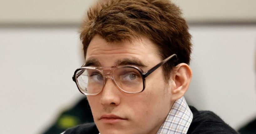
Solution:
[[[119,123],[119,122],[122,122],[125,120],[127,120],[127,119],[113,115],[113,114],[105,114],[99,118],[99,121],[106,123],[106,124],[115,124],[115,123]]]

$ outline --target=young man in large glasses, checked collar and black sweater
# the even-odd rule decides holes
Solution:
[[[191,35],[170,1],[104,1],[88,12],[81,40],[86,63],[73,80],[95,124],[65,134],[236,133],[187,105]]]

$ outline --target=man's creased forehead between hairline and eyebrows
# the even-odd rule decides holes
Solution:
[[[158,52],[156,45],[146,37],[132,41],[106,42],[96,35],[87,48],[86,61],[97,59],[102,64],[107,62],[106,66],[114,66],[113,62],[127,58],[154,63],[161,60]]]

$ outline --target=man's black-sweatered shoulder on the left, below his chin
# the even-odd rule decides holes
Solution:
[[[99,134],[95,123],[86,123],[65,131],[64,134]]]

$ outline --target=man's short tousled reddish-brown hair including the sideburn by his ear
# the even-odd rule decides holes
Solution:
[[[95,35],[107,42],[147,37],[156,44],[162,59],[176,54],[178,63],[190,62],[188,25],[180,8],[169,0],[104,0],[89,9],[80,32],[85,57]],[[173,61],[163,65],[166,81],[174,67]]]

